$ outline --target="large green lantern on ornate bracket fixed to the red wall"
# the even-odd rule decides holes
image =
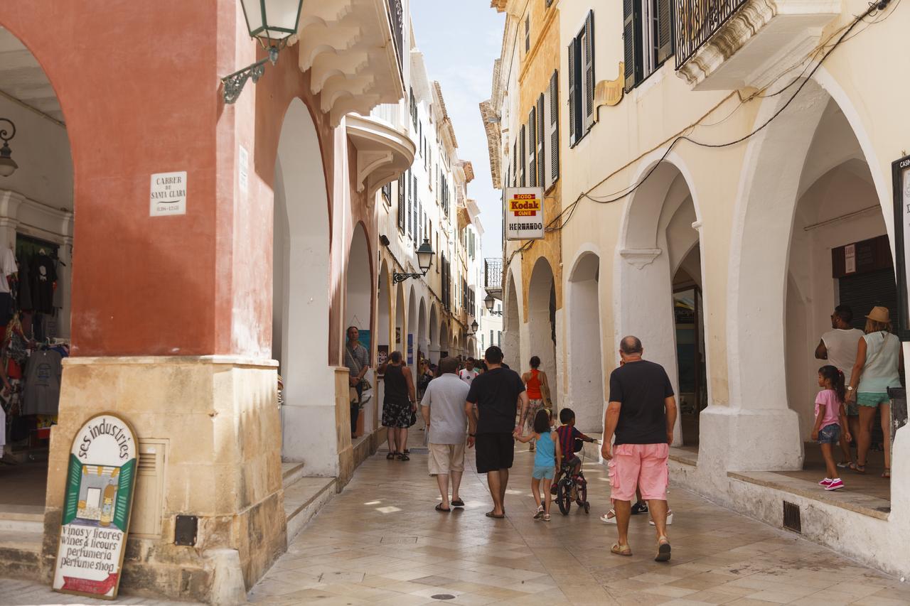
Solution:
[[[268,58],[221,78],[228,105],[238,100],[248,79],[252,78],[253,84],[258,82],[266,71],[267,61],[273,66],[278,61],[278,53],[288,45],[288,38],[297,33],[303,0],[240,0],[240,5],[247,18],[249,35],[268,51]]]

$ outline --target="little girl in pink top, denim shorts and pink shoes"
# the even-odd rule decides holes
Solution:
[[[834,445],[839,439],[849,442],[852,438],[847,427],[844,413],[844,373],[834,366],[828,365],[818,369],[818,387],[822,388],[815,396],[815,425],[812,429],[812,439],[817,440],[822,447],[824,466],[827,476],[818,482],[824,490],[838,490],[844,488],[844,482],[837,477],[837,465],[834,463]],[[841,436],[841,429],[844,435]]]

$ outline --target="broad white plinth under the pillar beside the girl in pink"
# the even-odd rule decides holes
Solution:
[[[802,470],[799,415],[791,409],[709,406],[699,420],[698,466],[724,471]]]

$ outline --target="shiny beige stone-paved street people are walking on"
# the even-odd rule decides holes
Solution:
[[[469,464],[472,467],[470,452]],[[467,507],[433,509],[426,455],[367,460],[249,593],[258,604],[858,604],[910,603],[910,586],[681,489],[672,490],[673,557],[652,561],[653,531],[632,519],[632,558],[609,553],[615,530],[598,516],[606,474],[587,463],[591,513],[531,519],[532,455],[516,453],[507,520],[490,520],[485,476],[467,470]],[[448,594],[450,601],[432,596]],[[0,604],[111,603],[0,580]],[[158,604],[124,597],[115,603]]]

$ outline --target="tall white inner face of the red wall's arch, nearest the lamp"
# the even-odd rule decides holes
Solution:
[[[282,456],[338,475],[329,368],[329,198],[307,106],[288,105],[275,161],[272,355],[284,379]]]

